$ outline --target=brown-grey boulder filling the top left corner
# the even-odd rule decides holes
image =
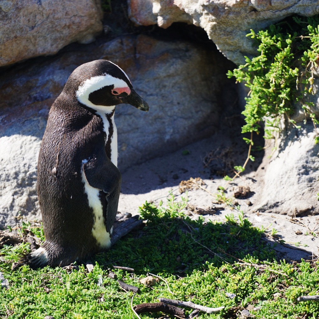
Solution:
[[[55,54],[102,31],[99,0],[0,1],[0,66]]]

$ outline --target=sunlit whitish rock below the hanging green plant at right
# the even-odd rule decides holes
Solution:
[[[266,140],[265,156],[256,172],[256,179],[263,182],[263,191],[254,211],[289,216],[318,213],[319,146],[314,143],[313,124],[303,127],[301,131],[287,131],[281,140],[286,145],[272,155],[274,141]]]

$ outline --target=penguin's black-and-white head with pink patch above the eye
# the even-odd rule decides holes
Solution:
[[[108,113],[122,103],[142,111],[149,110],[148,104],[134,91],[125,72],[107,60],[80,65],[70,75],[64,91],[75,93],[80,103],[96,111]]]

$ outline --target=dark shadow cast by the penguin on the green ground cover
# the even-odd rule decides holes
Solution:
[[[183,276],[208,267],[207,262],[218,267],[247,255],[259,260],[275,258],[262,236],[248,220],[204,223],[202,219],[153,215],[142,230],[123,237],[94,260],[110,269],[115,265],[134,268],[137,275],[149,271]]]

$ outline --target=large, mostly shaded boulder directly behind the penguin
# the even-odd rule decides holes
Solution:
[[[233,64],[217,51],[143,35],[75,47],[0,76],[0,227],[16,224],[19,211],[40,217],[36,166],[48,110],[78,65],[99,58],[119,64],[150,105],[148,113],[116,108],[122,171],[210,136],[225,105],[234,104],[234,86],[225,75]]]

